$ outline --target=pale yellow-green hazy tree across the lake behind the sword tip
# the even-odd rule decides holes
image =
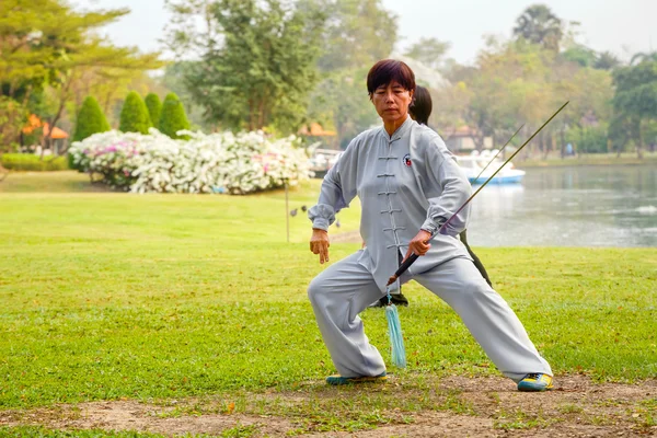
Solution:
[[[505,142],[522,124],[519,139],[528,138],[565,101],[569,105],[528,146],[527,155],[546,155],[557,145],[564,150],[569,129],[611,117],[609,71],[581,67],[525,39],[491,38],[475,66],[454,79],[451,87],[433,91],[441,104],[435,105],[430,123],[447,138],[469,126],[477,148],[486,137]]]

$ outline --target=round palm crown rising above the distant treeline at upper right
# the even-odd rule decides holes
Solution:
[[[558,50],[564,35],[562,20],[545,4],[532,4],[516,20],[514,35],[539,44],[552,50]]]

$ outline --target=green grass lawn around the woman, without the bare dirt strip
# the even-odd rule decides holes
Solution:
[[[12,174],[0,184],[0,408],[323,388],[334,369],[306,295],[323,267],[300,210],[286,242],[281,192],[81,193],[83,178]],[[318,193],[318,182],[291,191],[290,209]],[[331,231],[356,230],[356,207]],[[333,244],[331,258],[358,246]],[[557,374],[657,373],[654,249],[477,254]],[[406,290],[410,364],[391,367],[402,381],[497,372],[447,306],[417,285]],[[362,316],[389,360],[383,312]],[[452,405],[468,412],[445,400]],[[383,422],[360,415],[347,419]]]

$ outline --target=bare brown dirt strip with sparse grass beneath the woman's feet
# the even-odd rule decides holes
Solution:
[[[553,391],[532,394],[516,391],[503,378],[450,377],[423,382],[422,388],[391,379],[385,385],[357,389],[314,383],[297,391],[245,393],[238,407],[227,400],[113,401],[3,411],[0,426],[244,437],[657,435],[656,380],[596,384],[583,376],[561,377]],[[345,406],[348,411],[341,411]],[[351,416],[346,418],[346,413]]]

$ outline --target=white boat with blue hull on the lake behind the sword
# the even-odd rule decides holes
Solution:
[[[465,175],[471,184],[483,184],[491,177],[503,164],[504,161],[497,157],[488,168],[486,164],[491,162],[493,157],[497,154],[497,150],[484,150],[482,153],[472,151],[470,155],[457,155],[457,161],[465,171]],[[486,170],[482,173],[482,170]],[[477,175],[481,176],[477,177]],[[520,183],[525,177],[526,172],[514,166],[514,163],[507,163],[494,177],[489,184],[514,184]]]

